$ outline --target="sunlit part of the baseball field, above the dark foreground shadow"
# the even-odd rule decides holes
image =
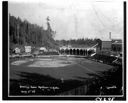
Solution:
[[[85,58],[45,57],[16,60],[10,63],[10,79],[20,79],[21,73],[37,73],[64,80],[90,78],[89,74],[100,75],[112,66]]]

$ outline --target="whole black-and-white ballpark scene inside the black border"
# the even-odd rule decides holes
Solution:
[[[9,96],[123,95],[123,2],[69,1],[8,2]]]

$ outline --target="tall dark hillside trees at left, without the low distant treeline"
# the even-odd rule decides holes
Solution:
[[[13,48],[15,45],[54,47],[56,45],[53,39],[54,31],[49,23],[48,26],[47,30],[44,30],[43,27],[31,24],[27,20],[22,21],[19,17],[9,15],[10,47]]]

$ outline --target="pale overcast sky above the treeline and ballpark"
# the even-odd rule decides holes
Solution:
[[[123,2],[54,1],[9,2],[9,13],[45,29],[49,16],[55,39],[123,37]]]

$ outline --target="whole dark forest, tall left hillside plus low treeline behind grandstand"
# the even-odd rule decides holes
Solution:
[[[47,18],[48,19],[48,18]],[[71,39],[71,40],[54,40],[55,31],[52,30],[50,23],[47,21],[47,29],[44,30],[36,24],[31,24],[27,20],[22,21],[19,17],[9,15],[9,40],[10,48],[15,46],[45,46],[46,48],[58,48],[59,46],[93,46],[99,44],[100,39]]]

